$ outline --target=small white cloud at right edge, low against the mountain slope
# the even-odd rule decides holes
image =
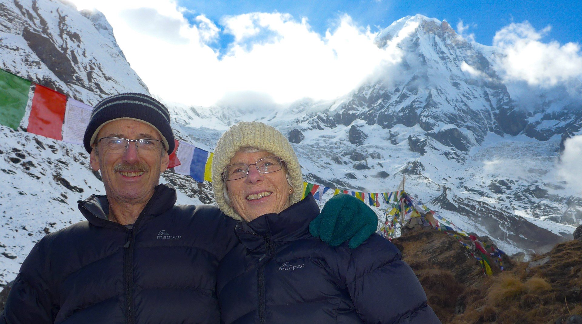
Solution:
[[[568,138],[560,156],[558,175],[582,195],[582,135]]]

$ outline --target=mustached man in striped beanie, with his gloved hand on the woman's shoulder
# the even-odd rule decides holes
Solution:
[[[144,94],[106,98],[84,145],[107,195],[79,201],[87,221],[38,241],[0,323],[218,323],[217,266],[236,243],[236,223],[215,206],[175,205],[176,190],[158,184],[174,148],[165,106]],[[357,203],[328,208],[334,215],[314,221],[315,232],[339,244],[361,228],[352,238],[361,243],[376,225]],[[354,213],[368,218],[349,223]],[[333,239],[330,229],[345,233]]]

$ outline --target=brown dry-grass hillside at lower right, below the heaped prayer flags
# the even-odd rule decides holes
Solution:
[[[442,232],[413,232],[395,240],[443,324],[555,324],[582,315],[582,241],[556,245],[546,264],[504,259],[505,272],[482,275],[477,261]],[[455,312],[459,314],[455,314]]]

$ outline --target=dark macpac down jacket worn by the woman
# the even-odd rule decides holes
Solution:
[[[242,244],[218,268],[224,323],[440,323],[395,245],[330,247],[308,231],[319,212],[308,195],[236,227]]]

